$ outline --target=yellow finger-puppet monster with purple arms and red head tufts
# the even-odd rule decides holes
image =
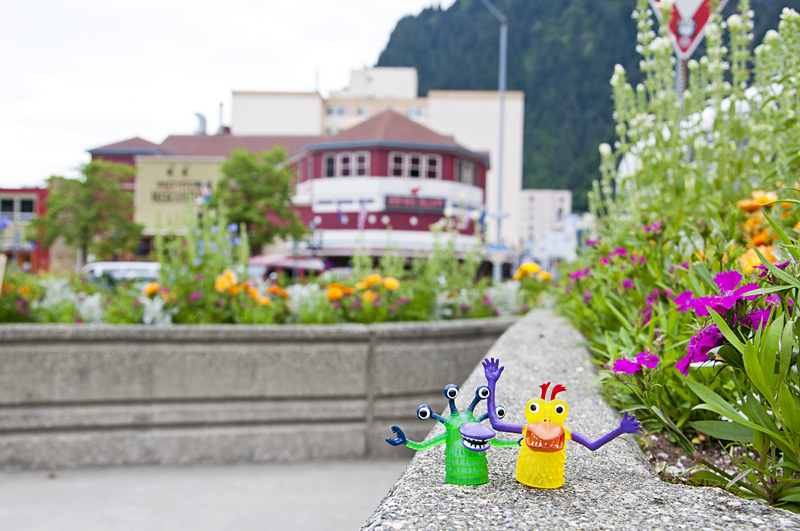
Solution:
[[[556,400],[556,395],[566,391],[563,385],[553,387],[550,400],[547,400],[547,390],[550,382],[542,384],[541,398],[534,398],[525,404],[525,425],[508,424],[493,414],[495,407],[495,388],[503,367],[500,360],[489,358],[483,361],[483,371],[489,384],[489,420],[492,427],[498,431],[521,433],[524,443],[520,444],[517,457],[517,481],[529,487],[540,489],[555,489],[564,484],[564,463],[567,460],[566,442],[573,440],[582,444],[589,450],[597,450],[607,442],[623,433],[637,433],[641,431],[641,424],[636,420],[636,415],[631,417],[628,413],[622,417],[619,427],[607,433],[596,441],[590,441],[577,432],[564,427],[569,407],[563,400]]]

